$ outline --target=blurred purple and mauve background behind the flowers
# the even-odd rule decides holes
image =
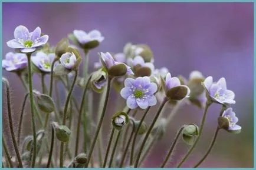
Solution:
[[[224,76],[235,92],[233,106],[239,117],[239,135],[222,131],[215,148],[201,167],[253,166],[253,3],[3,3],[3,54],[12,49],[5,44],[14,29],[25,25],[32,31],[40,26],[50,36],[51,45],[74,29],[99,29],[104,41],[90,53],[90,69],[99,61],[97,52],[122,52],[127,42],[147,44],[155,54],[155,66],[166,66],[173,76],[188,77],[193,70],[215,80]],[[11,84],[15,112],[19,111],[25,91],[17,76],[3,71]],[[35,88],[40,81],[35,76]],[[37,81],[38,80],[38,81]],[[76,91],[77,98],[80,93]],[[117,95],[111,94],[113,99]],[[97,105],[97,104],[96,104]],[[95,106],[96,106],[95,105]],[[185,166],[195,164],[208,148],[221,106],[210,108],[202,140]],[[109,106],[109,116],[113,114]],[[168,113],[166,113],[168,114]],[[166,136],[157,143],[145,162],[146,167],[162,162],[180,125],[199,124],[202,111],[189,105],[180,109]],[[6,115],[3,116],[4,119]],[[15,118],[15,124],[17,124]],[[29,122],[29,117],[27,118]],[[152,117],[149,116],[149,122]],[[8,124],[5,124],[4,127]],[[105,132],[109,123],[105,122]],[[5,134],[9,129],[4,128]],[[28,131],[29,132],[29,131]],[[25,132],[28,133],[28,132]],[[107,135],[104,135],[107,139]],[[180,142],[170,166],[186,152]]]

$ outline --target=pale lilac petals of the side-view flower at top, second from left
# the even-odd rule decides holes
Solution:
[[[73,34],[80,44],[86,44],[87,42],[91,42],[91,41],[101,42],[104,39],[104,36],[101,36],[100,31],[96,29],[94,29],[93,31],[90,31],[88,34],[83,30],[76,29],[73,31]]]

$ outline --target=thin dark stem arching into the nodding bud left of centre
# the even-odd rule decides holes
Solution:
[[[91,76],[88,78],[87,82],[86,82],[86,88],[84,88],[84,92],[83,92],[83,96],[81,99],[81,104],[80,104],[80,109],[79,109],[79,114],[78,114],[78,122],[77,122],[77,137],[76,137],[76,149],[75,149],[75,155],[78,154],[78,144],[79,144],[79,138],[80,138],[80,121],[81,121],[81,116],[82,116],[82,112],[83,112],[83,107],[86,101],[86,92],[88,89],[88,86],[90,84],[90,80],[91,80]]]

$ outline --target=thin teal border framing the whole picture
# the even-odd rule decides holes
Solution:
[[[1,39],[0,39],[0,54],[2,54],[2,3],[3,2],[254,2],[254,166],[255,166],[255,135],[256,135],[256,127],[255,127],[255,106],[256,106],[256,84],[255,84],[255,80],[256,80],[256,70],[255,70],[255,66],[256,66],[256,60],[255,60],[255,49],[256,49],[256,13],[255,13],[255,9],[256,9],[256,3],[254,0],[197,0],[197,1],[193,1],[193,0],[15,0],[15,1],[10,1],[10,0],[0,0],[0,23],[1,23],[1,27],[0,27],[0,35],[1,35]],[[2,59],[0,61],[0,64],[2,65]],[[0,66],[0,77],[2,78],[2,66]],[[0,98],[0,108],[2,108],[2,83],[0,84],[0,89],[1,89],[1,98]],[[1,120],[1,126],[0,126],[0,135],[1,135],[1,139],[2,139],[2,109],[0,112],[0,120]],[[2,140],[1,140],[2,142]],[[0,152],[2,153],[2,143],[0,145]],[[2,156],[0,156],[0,161],[2,162]],[[9,169],[9,168],[1,168],[1,169]],[[12,168],[12,169],[19,169],[19,168]],[[27,168],[27,169],[46,169],[46,168]],[[54,168],[54,169],[76,169],[76,168]],[[87,168],[87,169],[105,169],[105,168]],[[117,168],[108,168],[108,169],[117,169]],[[126,169],[134,169],[134,168],[126,168]],[[136,168],[136,169],[156,169],[156,170],[160,170],[162,168]],[[179,168],[165,168],[165,169],[179,169]],[[181,168],[181,169],[193,169],[193,168]],[[254,169],[254,168],[200,168],[200,169],[220,169],[220,170],[226,170],[226,169]]]

